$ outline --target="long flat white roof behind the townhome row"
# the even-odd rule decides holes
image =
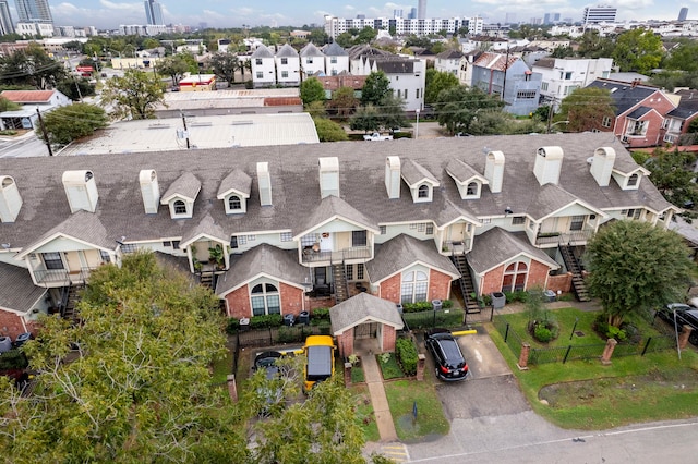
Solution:
[[[191,148],[232,148],[265,145],[317,144],[315,123],[308,113],[188,117]],[[61,156],[106,155],[186,149],[181,118],[122,121],[97,131]]]

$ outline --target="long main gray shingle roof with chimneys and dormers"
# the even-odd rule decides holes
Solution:
[[[113,249],[115,240],[120,240],[121,236],[125,236],[127,242],[182,236],[195,229],[206,215],[210,215],[227,235],[272,230],[289,230],[296,235],[312,223],[309,220],[311,215],[320,212],[317,159],[330,156],[339,159],[341,202],[347,205],[335,205],[342,209],[333,210],[352,218],[354,212],[350,211],[361,211],[361,221],[369,224],[437,220],[441,211],[449,208],[447,202],[474,217],[501,216],[507,206],[514,213],[522,213],[532,209],[531,204],[541,190],[533,175],[533,164],[535,150],[544,146],[563,148],[559,185],[591,206],[601,209],[647,206],[655,211],[671,207],[647,179],[640,182],[637,191],[622,191],[614,181],[607,187],[598,186],[587,163],[587,159],[593,156],[593,150],[598,147],[615,149],[616,170],[627,173],[638,169],[625,147],[607,133],[453,137],[381,144],[339,142],[81,157],[3,158],[0,175],[14,178],[23,205],[14,223],[0,223],[0,243],[25,247],[55,228],[57,231],[84,233],[83,229],[88,231],[99,227],[104,230],[85,239],[109,244],[109,248]],[[503,191],[492,194],[485,186],[481,198],[460,199],[456,184],[445,168],[453,159],[459,159],[477,172],[483,173],[483,147],[504,152],[506,164]],[[405,182],[401,182],[400,197],[388,198],[385,190],[387,156],[399,156],[402,161],[413,159],[441,181],[441,187],[434,191],[431,203],[412,203]],[[256,163],[260,161],[269,163],[274,206],[260,205],[256,179]],[[248,212],[226,216],[224,203],[216,199],[216,195],[222,179],[233,168],[250,175],[253,185]],[[99,202],[94,213],[71,215],[61,176],[64,171],[81,169],[89,169],[94,173]],[[157,215],[146,215],[139,186],[139,173],[142,169],[157,171],[160,190],[171,185],[183,172],[201,180],[201,192],[194,202],[193,217],[171,219],[167,206],[160,206]],[[322,217],[326,215],[317,216]],[[478,237],[474,243],[478,246]]]

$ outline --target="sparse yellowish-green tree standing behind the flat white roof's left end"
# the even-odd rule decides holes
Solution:
[[[165,103],[165,85],[151,73],[125,70],[123,76],[107,81],[101,100],[113,106],[119,119],[148,119],[157,105]]]

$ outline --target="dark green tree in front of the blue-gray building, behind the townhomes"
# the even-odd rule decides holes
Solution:
[[[438,125],[454,135],[465,132],[472,135],[492,133],[491,130],[480,124],[482,118],[491,121],[492,114],[503,115],[504,102],[496,96],[490,96],[479,88],[468,88],[462,85],[448,87],[438,94],[434,102]]]

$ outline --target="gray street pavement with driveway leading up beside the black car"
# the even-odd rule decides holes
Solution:
[[[414,463],[695,463],[698,420],[599,432],[561,429],[528,405],[516,378],[482,329],[458,342],[471,377],[437,388],[450,419],[445,437],[407,443]],[[428,357],[429,358],[429,357]],[[429,358],[428,366],[431,366]],[[609,412],[613,414],[613,412]]]

